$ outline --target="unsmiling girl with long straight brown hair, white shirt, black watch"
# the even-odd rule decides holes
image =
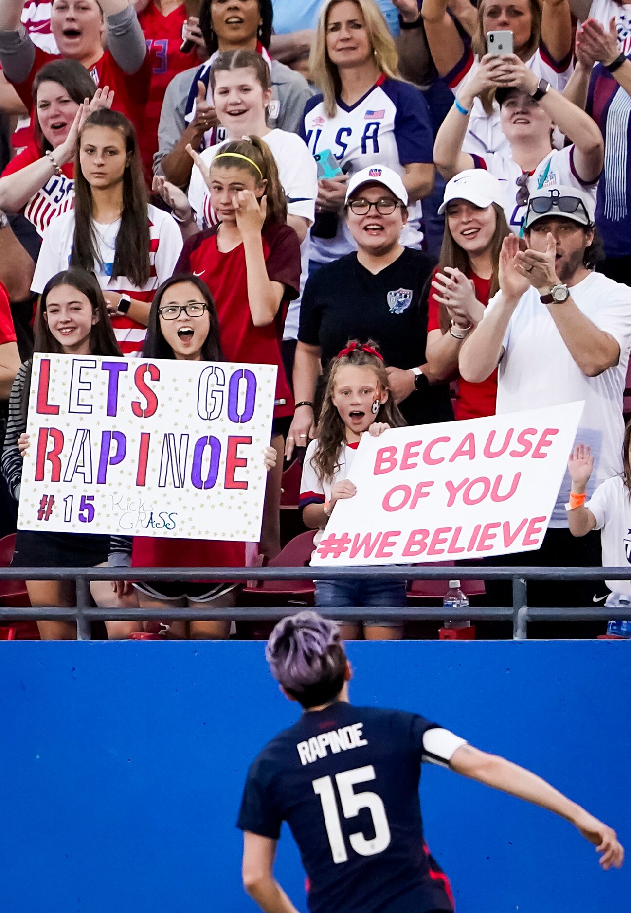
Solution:
[[[68,265],[94,271],[124,355],[142,349],[155,289],[173,275],[182,236],[149,205],[138,138],[119,111],[90,114],[79,132],[75,208],[44,232],[31,288]]]

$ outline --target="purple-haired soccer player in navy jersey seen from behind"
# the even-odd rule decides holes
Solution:
[[[309,876],[310,913],[453,910],[447,876],[423,837],[421,761],[561,815],[596,846],[603,868],[622,865],[615,832],[534,773],[415,713],[352,707],[333,622],[311,611],[283,619],[266,656],[283,693],[305,711],[250,767],[238,818],[244,885],[266,913],[297,913],[272,874],[283,821]]]

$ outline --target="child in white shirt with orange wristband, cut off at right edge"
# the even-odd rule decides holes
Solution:
[[[570,532],[586,536],[602,530],[603,567],[628,567],[628,580],[607,580],[612,593],[631,595],[631,422],[626,425],[622,445],[622,473],[607,478],[585,503],[587,483],[594,470],[591,448],[579,444],[568,463],[572,479],[570,500],[565,505]]]

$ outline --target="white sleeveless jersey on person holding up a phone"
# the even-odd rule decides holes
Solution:
[[[476,168],[486,168],[491,174],[500,178],[504,188],[504,213],[506,221],[509,224],[511,232],[519,235],[521,223],[526,215],[526,205],[518,205],[517,194],[519,193],[518,180],[523,172],[518,163],[514,162],[510,155],[501,155],[495,152],[493,155],[473,155],[473,161]],[[598,179],[591,183],[583,181],[576,172],[574,165],[574,147],[565,146],[563,149],[553,149],[537,165],[528,178],[528,193],[534,194],[535,191],[541,190],[542,187],[552,187],[555,184],[563,184],[566,187],[576,187],[577,190],[584,190],[594,200],[596,204],[596,188]]]

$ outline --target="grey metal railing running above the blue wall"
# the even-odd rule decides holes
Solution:
[[[631,607],[605,608],[593,604],[577,608],[535,608],[526,601],[528,581],[581,581],[581,580],[629,580],[629,568],[534,568],[534,567],[248,567],[248,568],[0,568],[0,580],[73,580],[77,587],[76,604],[59,606],[0,606],[0,623],[5,621],[74,621],[77,623],[79,640],[90,639],[90,623],[93,621],[261,621],[277,620],[297,611],[296,606],[237,606],[235,608],[213,608],[212,603],[200,603],[198,608],[166,609],[121,609],[95,607],[89,595],[90,581],[199,581],[248,582],[248,581],[317,581],[348,580],[361,574],[363,578],[379,580],[510,580],[512,584],[512,605],[475,606],[466,609],[449,609],[453,621],[512,621],[513,638],[525,640],[528,623],[531,621],[601,621],[615,615],[616,619],[631,621]],[[250,591],[256,595],[256,590]],[[265,591],[261,591],[264,594]],[[290,593],[287,594],[290,597]],[[445,609],[442,605],[408,605],[404,609],[393,606],[370,608],[319,609],[328,618],[340,621],[363,621],[369,617],[374,621],[443,621]]]

